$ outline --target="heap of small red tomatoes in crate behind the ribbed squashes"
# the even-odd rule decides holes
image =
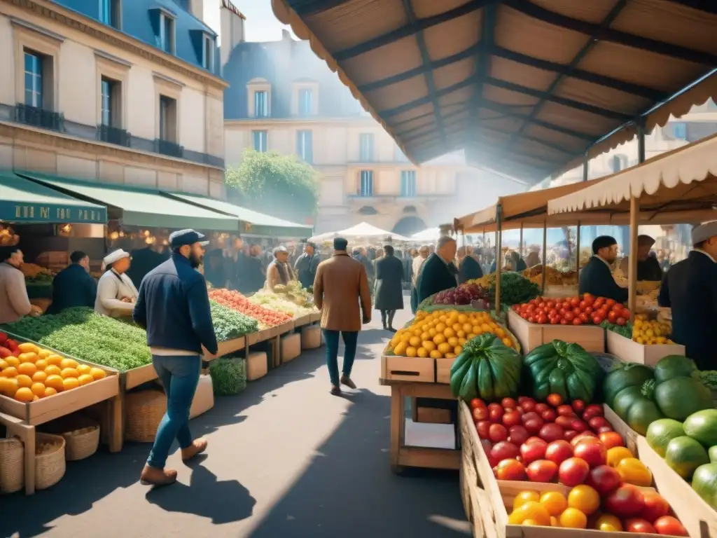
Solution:
[[[543,325],[599,325],[606,320],[625,325],[632,316],[622,303],[589,293],[569,298],[537,297],[512,308],[529,323]]]

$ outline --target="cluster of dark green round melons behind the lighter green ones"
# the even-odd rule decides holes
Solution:
[[[623,364],[605,377],[602,392],[605,403],[640,435],[656,420],[682,421],[713,408],[711,392],[702,384],[695,363],[681,355],[660,359],[655,369]]]

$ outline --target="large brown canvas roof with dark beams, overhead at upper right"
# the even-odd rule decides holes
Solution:
[[[539,181],[717,96],[699,0],[272,0],[414,161]],[[656,109],[691,83],[700,85]],[[600,141],[597,145],[594,145]]]

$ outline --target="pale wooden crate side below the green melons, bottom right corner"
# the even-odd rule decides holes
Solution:
[[[673,507],[675,514],[689,514],[680,517],[690,537],[716,538],[717,511],[714,511],[702,498],[695,493],[690,483],[672,470],[647,444],[642,435],[637,436],[637,449],[640,460],[652,471],[652,479],[665,500]]]

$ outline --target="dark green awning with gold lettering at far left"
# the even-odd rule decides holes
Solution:
[[[22,224],[107,222],[107,208],[0,171],[0,220]]]

